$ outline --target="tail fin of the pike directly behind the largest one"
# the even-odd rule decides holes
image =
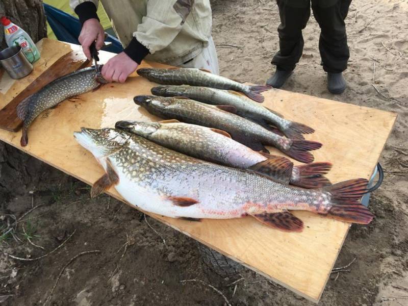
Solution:
[[[323,176],[333,166],[331,163],[312,163],[295,166],[290,184],[303,188],[321,188],[331,185],[327,177]]]

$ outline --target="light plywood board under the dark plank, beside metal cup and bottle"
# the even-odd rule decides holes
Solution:
[[[71,52],[69,44],[57,40],[43,38],[36,45],[41,53],[41,58],[33,64],[34,69],[27,77],[14,80],[6,72],[0,75],[0,109],[33,83],[49,66]]]

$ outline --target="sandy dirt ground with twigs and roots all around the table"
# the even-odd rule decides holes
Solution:
[[[278,47],[275,2],[214,0],[212,5],[216,44],[242,46],[218,47],[221,74],[264,84]],[[331,275],[319,304],[408,305],[404,298],[408,296],[408,3],[353,1],[346,24],[351,54],[346,91],[333,96],[326,89],[313,16],[303,32],[304,56],[284,89],[394,111],[399,116],[380,159],[386,170],[384,184],[370,201],[376,218],[368,226],[351,227],[335,266],[355,261],[349,271]],[[209,273],[192,239],[148,217],[147,223],[142,213],[108,196],[90,199],[88,186],[33,158],[27,157],[30,167],[22,172],[13,159],[0,162],[3,176],[9,173],[0,183],[10,191],[0,198],[0,224],[5,228],[20,218],[16,237],[6,235],[0,241],[2,305],[225,303],[212,288],[180,283],[183,279],[212,284],[234,306],[313,305],[248,269],[228,278]],[[30,190],[36,191],[33,198]],[[32,205],[41,206],[24,215]],[[14,260],[3,253],[33,259],[64,241],[61,248],[35,261]],[[93,250],[99,252],[74,258]]]

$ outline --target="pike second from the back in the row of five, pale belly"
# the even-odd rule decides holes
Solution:
[[[231,105],[236,108],[237,115],[255,121],[266,129],[271,129],[270,124],[272,124],[291,139],[304,139],[302,134],[311,134],[315,131],[305,124],[287,120],[282,115],[278,115],[235,91],[188,85],[167,85],[153,87],[151,93],[163,97],[187,97],[212,105]]]

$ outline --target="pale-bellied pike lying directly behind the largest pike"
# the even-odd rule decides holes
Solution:
[[[248,169],[285,184],[303,188],[331,185],[330,181],[323,176],[331,169],[331,163],[294,166],[285,157],[253,151],[233,140],[224,131],[173,121],[177,120],[118,121],[115,127],[188,156],[234,168]]]

